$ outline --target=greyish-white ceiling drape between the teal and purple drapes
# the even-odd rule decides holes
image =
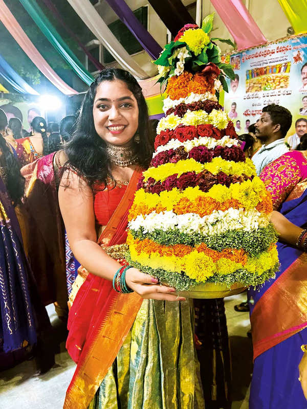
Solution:
[[[68,0],[75,12],[83,20],[95,37],[103,46],[113,55],[113,57],[125,69],[130,71],[134,76],[145,79],[148,75],[143,71],[140,65],[126,52],[120,42],[107,27],[103,19],[98,14],[90,0]]]

